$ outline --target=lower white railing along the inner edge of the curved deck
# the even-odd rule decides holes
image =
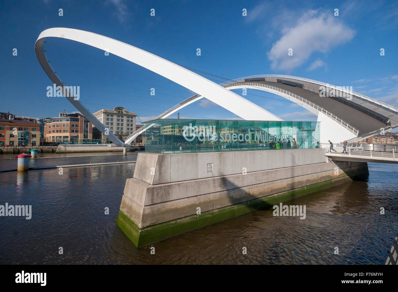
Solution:
[[[263,83],[254,83],[254,82],[237,82],[237,83],[229,83],[229,84],[225,84],[224,87],[234,87],[236,85],[252,85],[252,86],[260,86],[260,87],[267,87],[269,89],[273,89],[275,91],[279,91],[281,93],[285,93],[287,95],[290,95],[291,97],[298,99],[299,101],[302,101],[306,104],[308,104],[309,106],[315,108],[316,110],[324,113],[326,116],[328,116],[329,118],[331,118],[332,120],[336,121],[338,124],[340,124],[341,126],[343,126],[344,128],[346,128],[347,130],[349,130],[351,133],[355,134],[356,136],[359,133],[359,130],[355,129],[353,126],[351,126],[350,124],[348,124],[347,122],[343,121],[341,118],[335,116],[334,114],[332,114],[331,112],[328,112],[327,110],[325,110],[324,108],[318,106],[317,104],[314,104],[314,102],[308,101],[307,99],[304,99],[302,97],[300,97],[299,95],[296,95],[294,93],[291,93],[290,91],[286,91],[284,89],[280,89],[278,87],[275,86],[271,86],[271,85],[267,85],[267,84],[263,84]]]

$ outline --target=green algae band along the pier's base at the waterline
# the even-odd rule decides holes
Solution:
[[[243,203],[203,212],[200,215],[195,214],[144,228],[139,228],[137,224],[122,211],[119,211],[116,224],[123,230],[134,245],[139,248],[207,225],[236,218],[253,211],[266,209],[280,202],[289,201],[302,195],[314,193],[349,181],[351,181],[351,179],[347,176],[327,180],[325,182],[311,184],[294,190],[275,193]]]

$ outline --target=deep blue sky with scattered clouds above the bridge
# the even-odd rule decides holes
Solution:
[[[75,110],[66,99],[46,95],[51,81],[37,61],[34,44],[39,33],[50,27],[92,31],[228,79],[256,74],[295,75],[353,86],[354,91],[398,106],[397,1],[0,3],[1,112],[53,117],[63,108],[66,112]],[[63,16],[59,16],[60,8]],[[151,8],[155,16],[150,16]],[[247,16],[242,15],[244,8]],[[338,16],[334,16],[336,8]],[[12,54],[14,48],[17,56]],[[197,48],[201,56],[196,55]],[[286,48],[293,48],[293,58],[287,56]],[[380,48],[384,48],[385,56],[380,56]],[[84,44],[48,39],[45,50],[61,80],[80,86],[80,101],[92,112],[124,106],[144,121],[194,94]],[[150,95],[150,88],[156,89],[155,96]],[[247,99],[285,120],[316,119],[276,95],[248,93]],[[205,99],[181,109],[180,116],[238,118]]]

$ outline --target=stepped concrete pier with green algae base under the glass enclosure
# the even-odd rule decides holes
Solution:
[[[137,246],[369,175],[325,149],[139,153],[117,225]]]

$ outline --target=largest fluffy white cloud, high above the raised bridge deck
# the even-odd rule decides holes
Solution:
[[[339,44],[351,41],[355,31],[331,14],[310,10],[294,27],[284,29],[283,36],[267,52],[272,69],[292,70],[301,66],[314,52],[326,53]],[[288,56],[289,48],[293,56]]]

